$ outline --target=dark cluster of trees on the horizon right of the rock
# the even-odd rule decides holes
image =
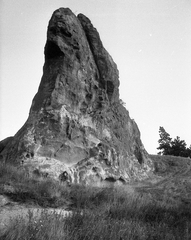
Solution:
[[[181,140],[180,137],[177,136],[172,139],[163,127],[159,127],[159,136],[159,147],[157,149],[160,151],[158,154],[191,158],[191,145],[187,147],[186,142]]]

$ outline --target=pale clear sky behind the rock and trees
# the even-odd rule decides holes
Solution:
[[[90,18],[120,74],[120,98],[157,153],[159,126],[191,144],[190,0],[0,0],[0,140],[27,120],[59,7]]]

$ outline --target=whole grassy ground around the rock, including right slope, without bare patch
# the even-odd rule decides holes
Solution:
[[[39,182],[16,167],[1,164],[0,194],[17,207],[25,206],[28,215],[13,218],[0,239],[191,239],[191,160],[150,157],[155,165],[150,179],[104,189]],[[41,209],[38,215],[33,211],[37,207]],[[56,211],[50,213],[50,208]],[[72,214],[63,215],[61,209]]]

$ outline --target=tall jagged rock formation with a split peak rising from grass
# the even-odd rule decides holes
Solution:
[[[90,20],[68,8],[56,10],[44,54],[29,117],[6,141],[3,160],[73,183],[147,178],[152,162],[119,99],[117,66]]]

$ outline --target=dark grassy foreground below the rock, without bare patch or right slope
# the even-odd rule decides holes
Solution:
[[[12,191],[3,185],[9,183]],[[1,240],[189,240],[190,205],[168,202],[149,192],[121,188],[66,187],[50,180],[38,181],[24,172],[0,165],[0,194],[19,203],[42,206],[40,217],[13,220]],[[155,189],[156,191],[156,189]],[[49,214],[48,207],[69,203],[73,214]],[[46,209],[47,208],[47,209]]]

